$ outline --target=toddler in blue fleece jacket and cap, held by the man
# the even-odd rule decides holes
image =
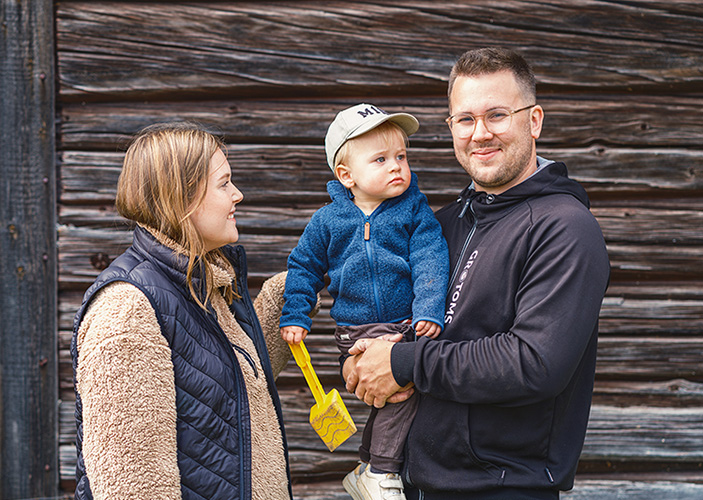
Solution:
[[[447,244],[408,165],[407,113],[358,104],[337,114],[325,137],[332,203],[313,214],[288,258],[281,336],[305,338],[327,287],[335,339],[343,354],[360,338],[399,333],[436,338],[449,275]],[[354,500],[405,500],[399,472],[417,408],[408,400],[372,408],[359,449],[362,463],[344,478]]]

